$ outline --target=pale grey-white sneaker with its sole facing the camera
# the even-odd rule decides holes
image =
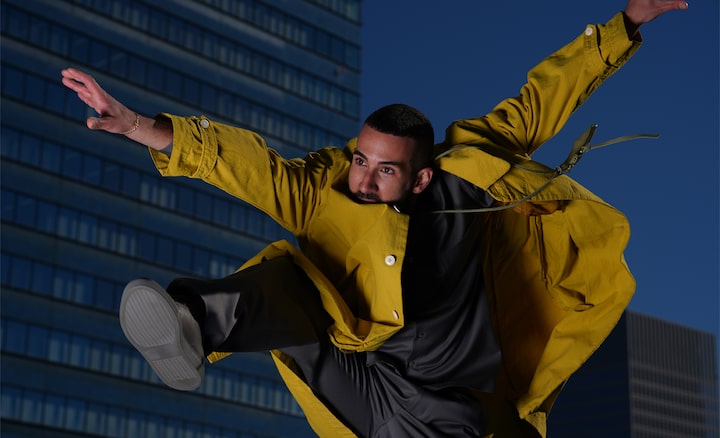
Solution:
[[[200,386],[205,375],[200,325],[159,284],[137,279],[125,286],[120,327],[167,386],[181,391]]]

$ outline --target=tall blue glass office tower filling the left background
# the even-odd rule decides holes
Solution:
[[[286,157],[359,126],[360,0],[3,0],[4,437],[314,436],[266,353],[165,387],[117,321],[124,284],[228,275],[291,238],[147,151],[89,131],[72,66],[130,108],[206,115]]]

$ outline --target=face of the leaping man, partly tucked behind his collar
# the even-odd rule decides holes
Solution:
[[[350,192],[363,202],[384,203],[401,201],[409,193],[420,193],[429,183],[432,171],[412,170],[414,152],[415,140],[363,126],[348,175]],[[424,173],[427,171],[429,176]]]

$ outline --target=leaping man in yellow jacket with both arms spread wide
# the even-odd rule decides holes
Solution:
[[[169,293],[131,282],[123,330],[178,389],[199,384],[203,354],[272,349],[322,436],[544,435],[634,283],[625,218],[566,177],[546,185],[526,157],[637,50],[641,24],[686,7],[629,0],[532,69],[520,96],[452,124],[434,163],[429,122],[404,105],[373,113],[344,150],[284,160],[251,132],[142,117],[63,71],[100,114],[88,127],[150,147],[163,175],[255,205],[302,249],[277,242],[228,278]]]

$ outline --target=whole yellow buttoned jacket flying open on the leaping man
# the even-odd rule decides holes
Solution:
[[[523,199],[548,176],[529,155],[637,50],[622,14],[585,32],[528,74],[516,98],[490,114],[453,123],[438,145],[439,166],[488,191],[499,204]],[[205,117],[165,114],[172,155],[151,151],[166,176],[201,178],[247,201],[295,236],[301,251],[275,242],[241,269],[290,254],[334,319],[328,334],[345,351],[378,348],[403,327],[400,270],[408,217],[347,196],[355,140],[304,159],[283,159],[258,135]],[[612,330],[634,291],[623,250],[626,218],[566,176],[518,207],[487,214],[485,278],[502,350],[498,390],[487,394],[488,436],[518,436],[522,422],[545,435],[563,383]],[[351,436],[295,373],[273,359],[321,436]],[[221,355],[211,355],[216,360]],[[513,407],[514,406],[514,407]]]

